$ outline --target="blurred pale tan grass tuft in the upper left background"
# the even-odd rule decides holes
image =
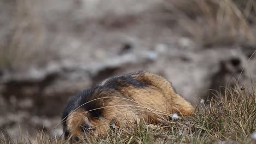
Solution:
[[[15,3],[16,9],[8,21],[6,41],[0,45],[0,69],[12,69],[30,62],[38,56],[42,44],[43,28],[33,15],[33,4],[28,0],[10,3]]]

